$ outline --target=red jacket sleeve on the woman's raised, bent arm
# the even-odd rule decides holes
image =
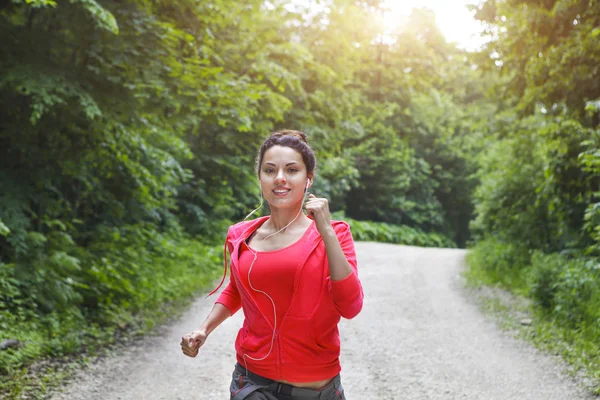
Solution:
[[[364,293],[358,279],[358,263],[354,250],[354,240],[350,226],[342,222],[335,228],[336,236],[352,268],[352,273],[339,281],[329,280],[329,294],[333,298],[335,307],[344,318],[351,319],[362,310]]]

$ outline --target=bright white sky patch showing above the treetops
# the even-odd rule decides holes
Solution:
[[[391,30],[401,23],[413,8],[430,8],[446,40],[474,50],[484,43],[479,37],[482,27],[473,19],[466,5],[477,3],[478,0],[387,0],[385,4],[391,11],[385,16],[386,29]]]

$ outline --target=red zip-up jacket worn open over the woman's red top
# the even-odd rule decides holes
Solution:
[[[225,241],[225,272],[219,287],[227,274],[226,250],[231,255],[230,281],[216,302],[227,307],[232,315],[240,307],[244,308],[244,323],[235,341],[237,359],[253,373],[274,380],[314,382],[332,378],[341,370],[338,322],[341,317],[355,317],[362,309],[364,297],[350,227],[343,221],[331,221],[352,267],[352,273],[340,281],[329,277],[323,239],[317,229],[309,228],[302,242],[303,262],[296,271],[289,309],[279,327],[274,329],[270,319],[261,312],[254,294],[242,284],[244,277],[240,276],[238,264],[240,244],[267,218],[231,226]],[[261,361],[244,357],[260,359],[266,354],[269,355]]]

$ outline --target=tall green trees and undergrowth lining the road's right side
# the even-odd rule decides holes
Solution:
[[[539,311],[535,340],[597,379],[598,3],[473,8],[497,35],[479,60],[498,74],[489,95],[501,100],[477,157],[470,273],[529,295]]]

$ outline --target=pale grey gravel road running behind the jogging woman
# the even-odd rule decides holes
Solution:
[[[356,249],[364,308],[340,324],[349,400],[594,398],[556,358],[481,314],[463,289],[464,250],[364,242]],[[197,358],[179,348],[214,299],[198,299],[172,326],[90,366],[51,399],[228,399],[242,313],[219,327]]]

